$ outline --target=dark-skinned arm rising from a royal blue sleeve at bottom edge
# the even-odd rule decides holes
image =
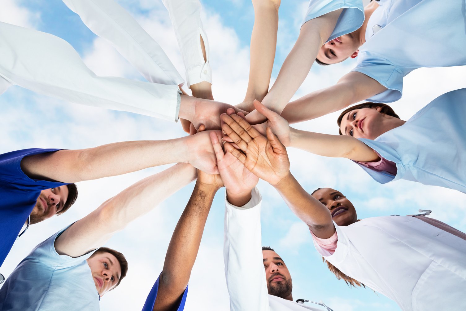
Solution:
[[[160,275],[154,311],[174,310],[188,286],[213,197],[222,187],[219,175],[198,170],[198,180],[171,236]]]

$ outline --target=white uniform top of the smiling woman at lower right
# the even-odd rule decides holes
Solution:
[[[327,261],[404,311],[466,310],[466,240],[409,216],[337,226]]]

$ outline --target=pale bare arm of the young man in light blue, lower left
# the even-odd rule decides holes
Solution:
[[[102,247],[131,221],[151,211],[195,178],[196,170],[186,163],[144,178],[65,230],[55,240],[57,253],[79,257]]]

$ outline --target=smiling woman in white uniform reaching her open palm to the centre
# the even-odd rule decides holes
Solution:
[[[245,154],[229,143],[226,149],[274,186],[308,225],[316,249],[343,274],[405,311],[466,309],[460,290],[466,286],[465,233],[425,216],[358,220],[341,192],[324,188],[311,196],[301,187],[289,171],[285,146],[270,128],[266,138],[234,114],[223,120],[226,134]]]

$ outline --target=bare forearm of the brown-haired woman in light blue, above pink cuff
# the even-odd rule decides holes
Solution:
[[[290,147],[315,155],[372,162],[378,155],[362,141],[346,135],[330,135],[297,130],[290,127]]]

